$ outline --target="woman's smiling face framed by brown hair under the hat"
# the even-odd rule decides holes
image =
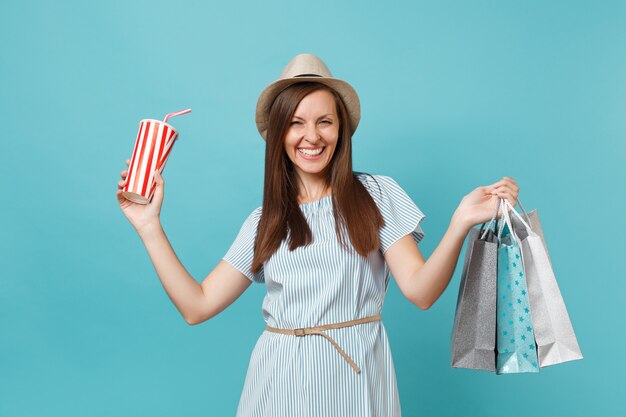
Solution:
[[[285,151],[298,175],[324,171],[339,139],[335,97],[327,90],[306,95],[296,107],[285,134]]]

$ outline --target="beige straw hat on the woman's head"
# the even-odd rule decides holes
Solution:
[[[361,119],[361,104],[354,88],[343,80],[333,78],[326,64],[315,55],[300,54],[289,61],[278,80],[268,85],[259,96],[256,104],[256,126],[261,137],[267,140],[270,106],[276,96],[290,85],[303,81],[316,81],[326,84],[339,93],[346,105],[350,118],[350,128],[354,134]]]

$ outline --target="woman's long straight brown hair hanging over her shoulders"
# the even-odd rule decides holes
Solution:
[[[261,270],[263,262],[288,236],[290,251],[313,240],[311,229],[298,205],[297,174],[285,152],[284,140],[300,101],[320,89],[333,94],[339,117],[339,138],[325,175],[326,186],[332,188],[337,238],[343,248],[350,251],[344,236],[347,231],[352,246],[363,257],[380,247],[378,231],[384,220],[369,192],[357,178],[357,173],[352,172],[352,134],[343,100],[335,90],[324,84],[300,82],[283,90],[269,111],[263,209],[254,245],[253,273]]]

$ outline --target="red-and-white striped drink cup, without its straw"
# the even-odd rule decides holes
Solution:
[[[154,171],[163,172],[177,138],[176,129],[161,120],[144,119],[139,122],[127,182],[122,188],[125,198],[139,204],[148,204],[152,200],[156,189]]]

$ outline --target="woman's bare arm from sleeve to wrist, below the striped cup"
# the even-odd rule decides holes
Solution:
[[[138,230],[150,260],[170,300],[185,321],[202,323],[223,311],[250,286],[245,275],[220,261],[199,284],[180,262],[160,223]]]

